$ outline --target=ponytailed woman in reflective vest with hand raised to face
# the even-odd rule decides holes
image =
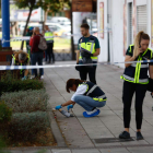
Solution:
[[[130,45],[125,61],[141,61],[152,59],[152,50],[149,49],[150,36],[144,32],[139,32],[136,36],[134,44]],[[148,90],[149,76],[148,71],[150,73],[150,78],[153,79],[153,63],[126,63],[125,73],[121,79],[123,82],[123,93],[122,93],[122,102],[123,102],[123,125],[125,131],[119,134],[120,139],[129,139],[129,128],[131,120],[131,102],[133,94],[136,93],[136,125],[137,125],[137,140],[142,140],[143,136],[141,133],[142,126],[142,105],[143,99],[145,97],[145,92]]]

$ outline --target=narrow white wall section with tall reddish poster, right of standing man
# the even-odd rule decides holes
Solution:
[[[98,33],[99,33],[99,2],[104,2],[104,30],[107,30],[107,0],[97,0],[97,25],[98,25]],[[98,61],[107,61],[108,59],[108,37],[107,32],[104,33],[104,39],[99,37],[98,40],[101,45],[101,55],[98,56]]]

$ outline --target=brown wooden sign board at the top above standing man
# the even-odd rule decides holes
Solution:
[[[93,0],[72,0],[72,12],[93,12]]]

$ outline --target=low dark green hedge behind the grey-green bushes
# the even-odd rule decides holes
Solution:
[[[5,92],[17,92],[27,90],[44,89],[44,83],[39,80],[17,80],[11,73],[7,73],[0,81],[0,95]]]

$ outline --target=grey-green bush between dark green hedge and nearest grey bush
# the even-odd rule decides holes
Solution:
[[[47,109],[47,99],[48,95],[45,90],[3,93],[1,96],[1,101],[4,101],[13,113],[45,111]]]

